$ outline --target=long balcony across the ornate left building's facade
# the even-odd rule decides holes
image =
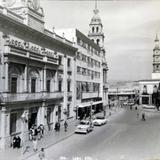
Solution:
[[[48,99],[61,99],[63,98],[63,92],[51,92],[51,93],[2,93],[1,101],[6,102],[25,102],[25,101],[42,101]]]

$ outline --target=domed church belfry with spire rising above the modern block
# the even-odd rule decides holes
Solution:
[[[101,18],[99,16],[99,10],[97,8],[97,1],[95,2],[95,9],[93,10],[93,17],[89,24],[88,37],[96,44],[103,48],[104,46],[104,33]]]

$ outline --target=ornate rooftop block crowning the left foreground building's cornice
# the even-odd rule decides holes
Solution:
[[[41,32],[44,31],[44,13],[40,0],[1,0],[2,5],[24,18],[24,23]]]

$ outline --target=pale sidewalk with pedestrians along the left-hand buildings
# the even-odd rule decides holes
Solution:
[[[117,109],[107,109],[106,111],[106,118],[109,118],[111,115],[113,115]],[[111,115],[109,114],[111,112]],[[95,116],[103,115],[103,112],[95,114]],[[56,143],[59,143],[60,141],[63,141],[70,136],[74,134],[74,130],[76,125],[78,124],[77,120],[73,120],[68,125],[68,131],[64,131],[63,123],[61,124],[61,130],[60,132],[55,132],[54,130],[49,131],[46,135],[44,135],[44,138],[38,141],[38,151],[43,148],[48,148],[52,145],[55,145]],[[33,155],[35,155],[37,152],[33,151],[33,145],[31,141],[25,142],[23,147],[21,149],[13,149],[8,148],[6,150],[0,150],[0,159],[2,160],[22,160],[27,159]]]

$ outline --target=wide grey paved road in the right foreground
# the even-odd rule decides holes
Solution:
[[[46,150],[48,160],[153,160],[160,159],[160,113],[147,112],[147,120],[135,110],[124,109],[107,125],[87,134],[74,134]],[[78,157],[81,157],[81,159]],[[88,157],[88,159],[87,159]],[[37,156],[31,157],[34,160]]]

